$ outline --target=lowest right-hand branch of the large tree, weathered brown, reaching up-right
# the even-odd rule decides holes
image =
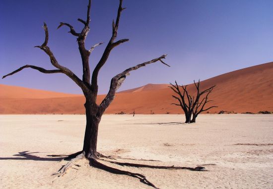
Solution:
[[[120,88],[124,80],[126,79],[126,76],[130,75],[130,72],[133,70],[137,70],[138,68],[141,68],[143,66],[146,66],[147,64],[155,63],[157,61],[160,61],[161,59],[165,59],[167,55],[162,55],[161,57],[155,58],[153,60],[150,60],[148,62],[144,62],[142,64],[138,64],[134,67],[131,67],[124,72],[116,75],[115,77],[112,78],[111,84],[110,84],[110,89],[106,97],[102,100],[100,104],[100,108],[102,108],[102,111],[105,111],[106,108],[110,105],[110,103],[113,101],[115,98],[116,91]]]

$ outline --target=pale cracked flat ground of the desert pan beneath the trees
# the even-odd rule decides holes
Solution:
[[[119,159],[134,163],[215,164],[205,165],[206,172],[108,164],[144,174],[161,189],[273,188],[273,115],[201,115],[196,124],[181,124],[183,120],[182,115],[105,115],[98,150],[162,161]],[[73,166],[64,177],[51,176],[66,161],[47,155],[79,151],[84,123],[84,115],[0,115],[0,188],[151,188],[136,178],[92,168],[86,160],[77,162],[80,167]]]

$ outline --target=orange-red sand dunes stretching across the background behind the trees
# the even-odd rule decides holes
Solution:
[[[173,82],[173,81],[172,81]],[[182,85],[183,81],[178,81]],[[216,85],[210,94],[210,113],[273,111],[273,62],[229,72],[201,82],[202,89]],[[193,93],[194,85],[188,86]],[[167,84],[148,84],[117,94],[106,113],[182,113]],[[105,95],[98,97],[98,103]],[[0,114],[84,113],[84,97],[0,85]],[[208,104],[209,105],[209,104]]]

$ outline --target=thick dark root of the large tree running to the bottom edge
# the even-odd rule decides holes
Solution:
[[[133,172],[123,171],[123,170],[120,170],[120,169],[109,167],[107,165],[104,165],[104,164],[98,162],[94,158],[89,159],[89,161],[90,161],[90,166],[93,166],[95,168],[102,169],[104,171],[108,171],[108,172],[114,173],[114,174],[128,175],[128,176],[131,176],[131,177],[135,177],[135,178],[138,178],[140,180],[140,182],[142,182],[142,183],[144,183],[146,185],[149,185],[149,186],[151,186],[151,187],[153,187],[155,189],[159,189],[154,184],[149,182],[144,175],[141,175],[139,173],[133,173]]]

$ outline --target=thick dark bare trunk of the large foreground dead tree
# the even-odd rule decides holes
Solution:
[[[86,99],[84,106],[86,111],[86,128],[82,150],[87,159],[97,158],[98,128],[102,113],[99,111],[97,104],[90,102],[89,99]]]

